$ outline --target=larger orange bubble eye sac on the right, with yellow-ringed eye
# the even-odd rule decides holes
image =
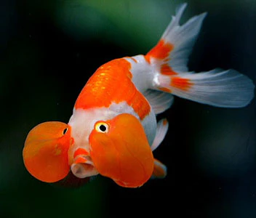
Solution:
[[[89,136],[97,171],[123,187],[140,187],[153,173],[153,154],[140,121],[128,113],[98,121]]]

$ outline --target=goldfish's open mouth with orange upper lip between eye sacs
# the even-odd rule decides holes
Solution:
[[[80,179],[99,174],[90,156],[77,156],[71,164],[71,171]]]

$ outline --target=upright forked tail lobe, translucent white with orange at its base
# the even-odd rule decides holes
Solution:
[[[161,72],[188,71],[188,56],[191,54],[201,29],[201,24],[207,13],[204,12],[201,15],[192,17],[184,25],[180,26],[180,17],[183,15],[186,6],[187,4],[185,3],[177,7],[176,15],[172,16],[172,21],[161,36],[159,43],[145,55],[148,62],[154,62],[161,66]]]

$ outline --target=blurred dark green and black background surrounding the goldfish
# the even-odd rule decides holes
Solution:
[[[58,187],[23,165],[29,130],[68,122],[89,76],[109,60],[148,52],[181,2],[1,1],[0,217],[256,217],[255,100],[225,109],[176,97],[159,116],[170,127],[154,152],[168,175],[137,189],[103,177]],[[256,81],[256,1],[187,2],[182,22],[209,12],[189,68],[234,68]]]

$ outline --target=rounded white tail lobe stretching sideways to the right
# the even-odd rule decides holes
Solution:
[[[204,73],[179,73],[159,76],[161,87],[179,97],[224,108],[241,108],[254,96],[254,84],[236,70],[210,70]]]

